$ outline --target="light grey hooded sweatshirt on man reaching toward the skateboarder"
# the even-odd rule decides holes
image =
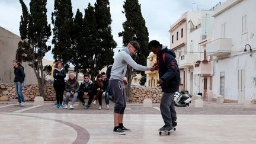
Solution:
[[[121,51],[119,53],[117,53],[117,55],[114,59],[110,79],[119,79],[119,80],[123,81],[123,79],[126,75],[127,65],[132,66],[132,68],[136,69],[137,71],[150,71],[151,70],[151,68],[149,68],[149,67],[137,64],[132,59],[132,56],[130,56],[128,47],[125,47],[124,49],[121,49]]]

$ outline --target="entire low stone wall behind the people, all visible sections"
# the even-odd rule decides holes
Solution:
[[[34,100],[35,97],[40,95],[38,85],[24,85],[23,94],[25,101]],[[150,98],[152,103],[160,103],[161,97],[161,88],[132,87],[129,102],[143,103],[145,98]],[[0,101],[9,101],[13,99],[17,99],[14,84],[1,84]],[[46,85],[46,87],[44,87],[44,100],[56,100],[56,94],[53,85]]]

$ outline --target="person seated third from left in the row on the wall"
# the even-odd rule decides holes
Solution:
[[[101,74],[98,74],[96,76],[96,82],[94,83],[94,95],[95,98],[92,101],[92,104],[96,104],[96,101],[98,99],[100,107],[98,108],[98,110],[101,110],[102,108],[102,94],[104,91],[104,84],[103,84],[103,77]]]

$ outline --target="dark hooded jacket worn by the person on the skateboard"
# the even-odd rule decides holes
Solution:
[[[165,60],[163,58],[165,53]],[[158,54],[159,78],[164,81],[161,85],[162,91],[174,93],[180,87],[180,70],[178,68],[176,55],[167,46],[162,46],[162,50]]]

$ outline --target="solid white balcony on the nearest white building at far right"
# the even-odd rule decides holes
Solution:
[[[232,39],[220,38],[206,44],[207,56],[223,56],[231,53]]]

